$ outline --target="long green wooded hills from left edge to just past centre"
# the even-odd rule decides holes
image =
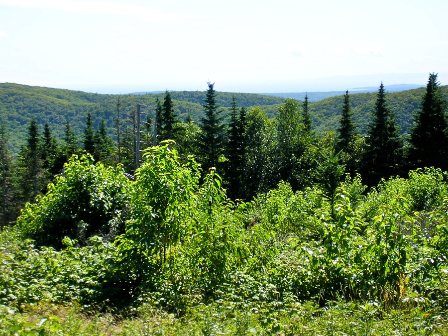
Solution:
[[[285,101],[284,98],[269,97],[256,94],[240,94],[217,92],[217,101],[225,112],[231,104],[232,95],[238,106],[266,106],[273,116],[277,106]],[[34,87],[12,83],[0,84],[0,122],[4,123],[9,136],[9,145],[16,154],[26,137],[27,126],[35,118],[41,129],[45,122],[49,122],[53,134],[62,138],[66,121],[69,120],[79,138],[85,128],[88,112],[92,112],[94,127],[105,118],[109,131],[113,134],[116,104],[121,101],[122,118],[136,109],[138,103],[156,106],[156,99],[163,102],[165,94],[144,95],[101,95],[81,91]],[[171,97],[176,112],[181,120],[188,115],[199,121],[203,108],[201,103],[205,92],[172,92]],[[144,107],[142,112],[154,115],[154,110]]]

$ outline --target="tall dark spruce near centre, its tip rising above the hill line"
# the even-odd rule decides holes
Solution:
[[[204,172],[218,165],[224,148],[224,124],[221,122],[223,117],[216,104],[215,83],[207,82],[207,85],[209,89],[204,100],[205,115],[201,118],[202,133],[199,139]]]

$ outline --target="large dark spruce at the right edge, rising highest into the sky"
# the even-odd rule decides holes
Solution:
[[[411,166],[434,166],[448,170],[447,101],[435,73],[429,76],[422,107],[414,116],[414,121],[409,140]]]

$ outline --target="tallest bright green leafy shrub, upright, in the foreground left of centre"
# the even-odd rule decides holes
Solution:
[[[163,141],[143,152],[146,160],[130,190],[130,218],[117,238],[121,262],[139,281],[166,262],[193,218],[199,166],[192,157],[182,164],[172,144]]]

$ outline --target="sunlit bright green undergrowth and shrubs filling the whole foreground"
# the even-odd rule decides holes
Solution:
[[[0,335],[448,334],[445,173],[244,203],[144,156],[135,182],[73,158],[1,232]]]

